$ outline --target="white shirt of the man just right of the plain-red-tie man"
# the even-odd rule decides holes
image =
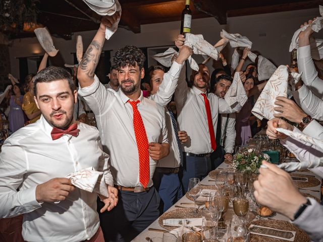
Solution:
[[[229,117],[227,117],[229,115]],[[226,123],[228,122],[227,128]],[[225,143],[223,144],[223,141]],[[221,146],[224,146],[226,153],[233,153],[236,143],[236,114],[221,114]]]

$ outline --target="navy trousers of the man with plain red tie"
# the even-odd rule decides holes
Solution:
[[[207,176],[210,170],[210,157],[185,156],[184,153],[184,169],[182,177],[184,194],[188,190],[188,182],[190,178],[196,177],[202,180],[205,176]]]

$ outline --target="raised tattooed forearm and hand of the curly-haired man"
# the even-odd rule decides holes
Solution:
[[[112,16],[104,16],[101,19],[100,28],[96,32],[92,42],[85,51],[77,72],[77,79],[81,88],[88,87],[94,82],[94,71],[100,58],[105,40],[105,27],[111,27],[119,17],[119,13]]]

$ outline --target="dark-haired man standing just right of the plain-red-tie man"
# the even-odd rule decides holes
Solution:
[[[232,77],[228,75],[219,75],[214,84],[214,94],[224,98],[229,87],[232,84]],[[221,117],[221,119],[220,119]],[[217,148],[211,154],[212,169],[217,168],[224,159],[232,160],[233,149],[236,141],[236,114],[219,114],[218,127],[216,134]]]

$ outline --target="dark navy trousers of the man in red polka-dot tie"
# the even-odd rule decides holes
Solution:
[[[159,217],[160,197],[154,188],[140,193],[119,190],[118,197],[118,205],[110,212],[100,213],[103,203],[98,200],[105,242],[131,241]]]

